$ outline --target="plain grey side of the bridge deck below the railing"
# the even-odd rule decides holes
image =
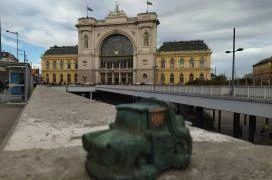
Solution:
[[[150,90],[122,89],[116,87],[96,87],[96,90],[146,98],[155,97],[174,103],[272,118],[272,101],[267,99],[251,99],[231,96],[209,96],[167,91],[159,92]]]

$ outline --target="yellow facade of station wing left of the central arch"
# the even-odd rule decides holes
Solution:
[[[77,54],[43,55],[41,57],[42,78],[47,83],[76,83]]]

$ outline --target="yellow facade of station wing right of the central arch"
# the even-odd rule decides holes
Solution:
[[[158,52],[156,83],[185,84],[190,79],[211,79],[211,50]]]

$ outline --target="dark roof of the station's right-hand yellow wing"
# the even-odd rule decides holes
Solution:
[[[204,41],[177,41],[164,42],[159,51],[190,51],[190,50],[209,50]]]

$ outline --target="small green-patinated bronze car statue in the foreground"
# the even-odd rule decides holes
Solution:
[[[153,180],[190,164],[192,138],[174,105],[156,99],[117,106],[108,130],[84,134],[86,169],[97,179]]]

